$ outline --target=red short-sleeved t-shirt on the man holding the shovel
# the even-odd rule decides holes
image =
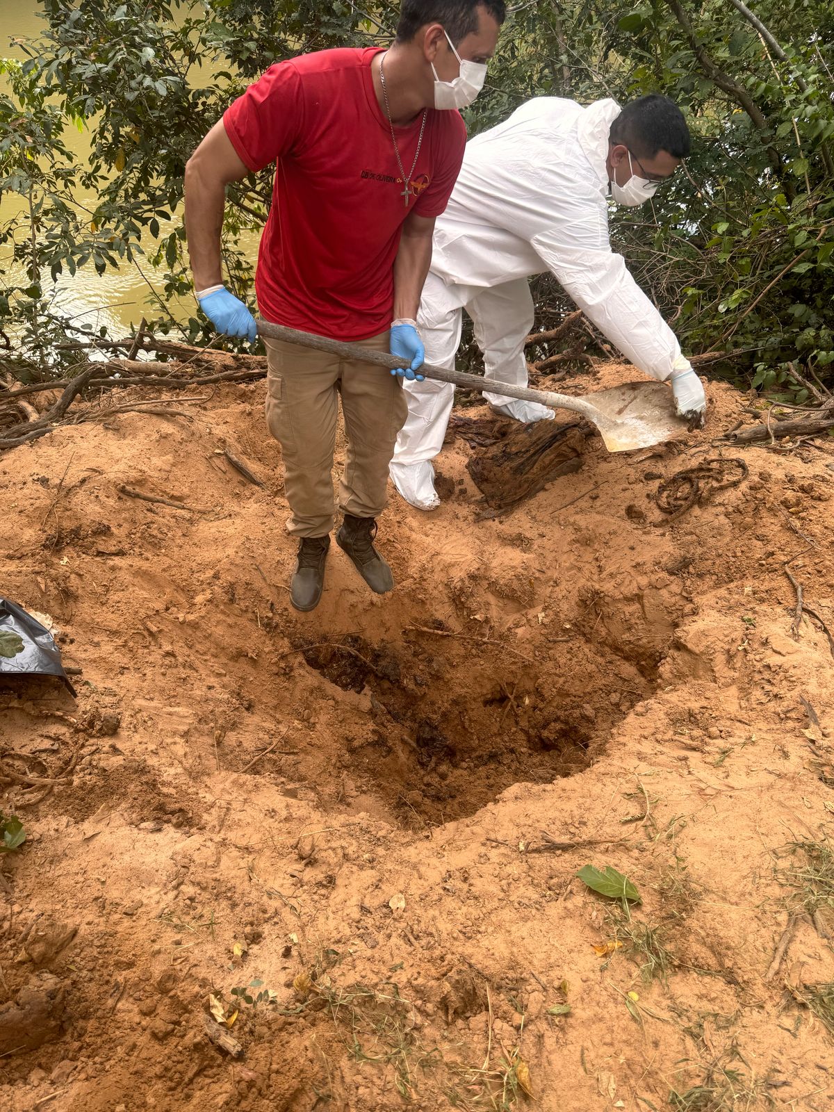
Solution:
[[[394,259],[411,212],[439,216],[464,157],[460,113],[429,109],[408,208],[394,140],[374,91],[376,48],[322,50],[278,62],[224,116],[250,170],[277,162],[256,292],[276,324],[340,340],[385,331]],[[395,128],[408,173],[421,117]]]

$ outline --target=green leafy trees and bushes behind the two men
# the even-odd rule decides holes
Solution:
[[[47,22],[0,98],[0,188],[21,207],[0,227],[27,268],[7,287],[2,317],[26,320],[46,345],[48,285],[62,268],[130,265],[143,251],[165,268],[157,327],[191,339],[208,326],[175,320],[190,289],[181,222],[188,155],[227,105],[274,60],[332,46],[385,42],[394,2],[312,0],[41,0]],[[749,350],[765,388],[791,360],[831,380],[834,336],[834,10],[826,0],[646,0],[635,7],[522,4],[508,19],[488,88],[467,112],[490,127],[533,96],[620,102],[648,91],[681,105],[695,137],[685,170],[651,205],[620,210],[613,228],[637,279],[685,350]],[[87,127],[76,167],[67,128]],[[80,210],[73,176],[98,202]],[[251,297],[255,235],[271,181],[229,191],[228,280]],[[543,320],[565,311],[536,282]],[[40,335],[38,332],[40,322]],[[736,367],[738,364],[736,364]]]

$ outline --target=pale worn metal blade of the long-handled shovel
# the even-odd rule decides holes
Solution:
[[[663,444],[686,431],[686,421],[675,413],[672,390],[663,383],[625,383],[608,390],[586,394],[599,413],[589,415],[608,451],[633,451]]]

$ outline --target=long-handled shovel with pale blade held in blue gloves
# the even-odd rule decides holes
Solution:
[[[369,351],[359,344],[342,344],[326,336],[314,336],[310,332],[299,332],[295,328],[285,328],[282,325],[272,325],[268,320],[258,319],[258,332],[270,339],[299,344],[316,351],[328,351],[344,359],[375,363],[388,369],[391,367],[405,369],[409,366],[407,359],[400,359],[396,355]],[[686,420],[675,413],[672,390],[663,383],[626,383],[609,390],[598,390],[586,397],[572,398],[568,394],[532,390],[526,386],[513,386],[509,383],[485,379],[479,375],[466,375],[459,370],[446,370],[444,367],[433,367],[429,364],[424,364],[419,374],[440,383],[454,383],[465,390],[480,393],[488,389],[490,394],[503,394],[510,398],[522,398],[524,401],[538,401],[550,409],[572,409],[596,426],[608,451],[648,448],[653,444],[663,444],[678,433],[686,431]]]

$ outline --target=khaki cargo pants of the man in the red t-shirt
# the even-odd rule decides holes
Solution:
[[[388,332],[363,345],[388,351]],[[332,456],[341,395],[348,449],[339,509],[377,517],[388,496],[388,464],[408,415],[403,380],[385,367],[340,359],[264,337],[267,427],[281,446],[284,489],[297,537],[322,537],[334,526]]]

